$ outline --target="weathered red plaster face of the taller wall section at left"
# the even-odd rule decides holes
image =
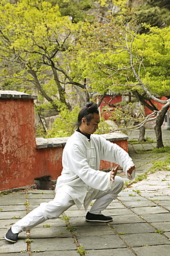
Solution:
[[[0,100],[1,190],[30,184],[35,163],[34,102]]]

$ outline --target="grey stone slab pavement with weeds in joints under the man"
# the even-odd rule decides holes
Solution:
[[[164,145],[169,145],[170,131],[163,130]],[[154,138],[154,131],[147,130]],[[129,139],[138,138],[138,131]],[[136,176],[162,161],[166,154],[153,154],[156,143],[129,144],[129,154],[136,164]],[[138,151],[146,149],[147,153]],[[119,173],[127,181],[123,173]],[[21,232],[19,241],[10,244],[4,235],[12,223],[43,201],[50,201],[50,190],[26,190],[0,197],[0,255],[3,256],[168,256],[170,255],[170,172],[148,174],[147,179],[125,188],[103,214],[114,218],[110,223],[85,221],[85,210],[72,206],[63,218],[45,221],[30,232]],[[67,218],[69,217],[69,218]],[[25,240],[28,239],[28,240]],[[27,242],[26,242],[27,241]],[[84,247],[81,247],[84,246]],[[81,249],[79,253],[77,248]],[[84,252],[84,254],[83,254]]]

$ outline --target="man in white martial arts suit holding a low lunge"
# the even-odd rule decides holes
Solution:
[[[56,182],[56,196],[41,203],[23,219],[14,223],[6,233],[6,240],[15,243],[19,232],[29,230],[47,219],[56,219],[62,212],[76,204],[78,209],[96,199],[87,212],[86,221],[109,222],[112,218],[101,212],[107,208],[123,189],[123,179],[116,176],[118,165],[129,179],[134,179],[135,165],[129,154],[102,136],[94,134],[100,116],[98,107],[88,102],[78,114],[78,129],[70,136],[63,149],[63,170]],[[110,172],[99,171],[100,159],[118,164]]]

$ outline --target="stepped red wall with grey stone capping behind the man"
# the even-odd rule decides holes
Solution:
[[[36,138],[34,129],[36,96],[18,91],[0,91],[0,190],[34,185],[34,179],[50,176],[55,181],[62,170],[62,153],[67,138]],[[102,135],[128,150],[127,136]],[[101,161],[100,170],[114,167]]]

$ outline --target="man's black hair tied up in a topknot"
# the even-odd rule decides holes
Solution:
[[[76,123],[76,126],[79,127],[81,125],[82,118],[86,118],[88,125],[94,118],[94,113],[99,113],[97,104],[92,101],[87,102],[85,107],[83,107],[83,109],[78,113],[78,122]]]

